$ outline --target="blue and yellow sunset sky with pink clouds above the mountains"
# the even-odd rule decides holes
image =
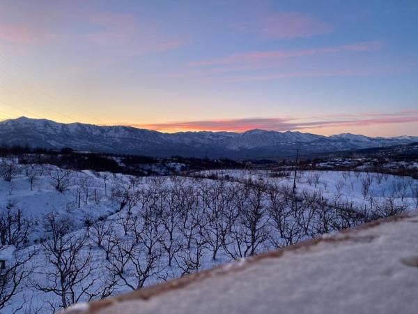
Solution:
[[[418,135],[418,1],[0,0],[0,120]]]

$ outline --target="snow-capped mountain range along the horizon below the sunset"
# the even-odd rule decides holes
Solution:
[[[0,144],[150,156],[265,157],[385,147],[418,142],[418,137],[332,136],[300,132],[248,130],[161,133],[129,126],[61,124],[20,117],[0,122]]]

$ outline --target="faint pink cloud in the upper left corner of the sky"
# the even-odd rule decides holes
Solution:
[[[15,45],[28,50],[52,40],[70,48],[80,44],[103,48],[102,54],[137,54],[162,52],[183,45],[183,38],[173,38],[160,24],[130,13],[100,10],[86,3],[77,6],[48,6],[33,3],[22,6],[13,2],[0,3],[0,44]]]

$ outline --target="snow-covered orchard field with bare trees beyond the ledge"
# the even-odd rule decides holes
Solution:
[[[0,179],[1,241],[31,258],[1,313],[51,313],[418,207],[418,181],[387,174],[297,172],[293,193],[292,172],[16,167]]]

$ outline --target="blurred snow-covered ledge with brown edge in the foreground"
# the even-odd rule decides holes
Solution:
[[[415,212],[334,234],[185,278],[178,287],[167,283],[99,301],[94,313],[417,313],[417,223]]]

